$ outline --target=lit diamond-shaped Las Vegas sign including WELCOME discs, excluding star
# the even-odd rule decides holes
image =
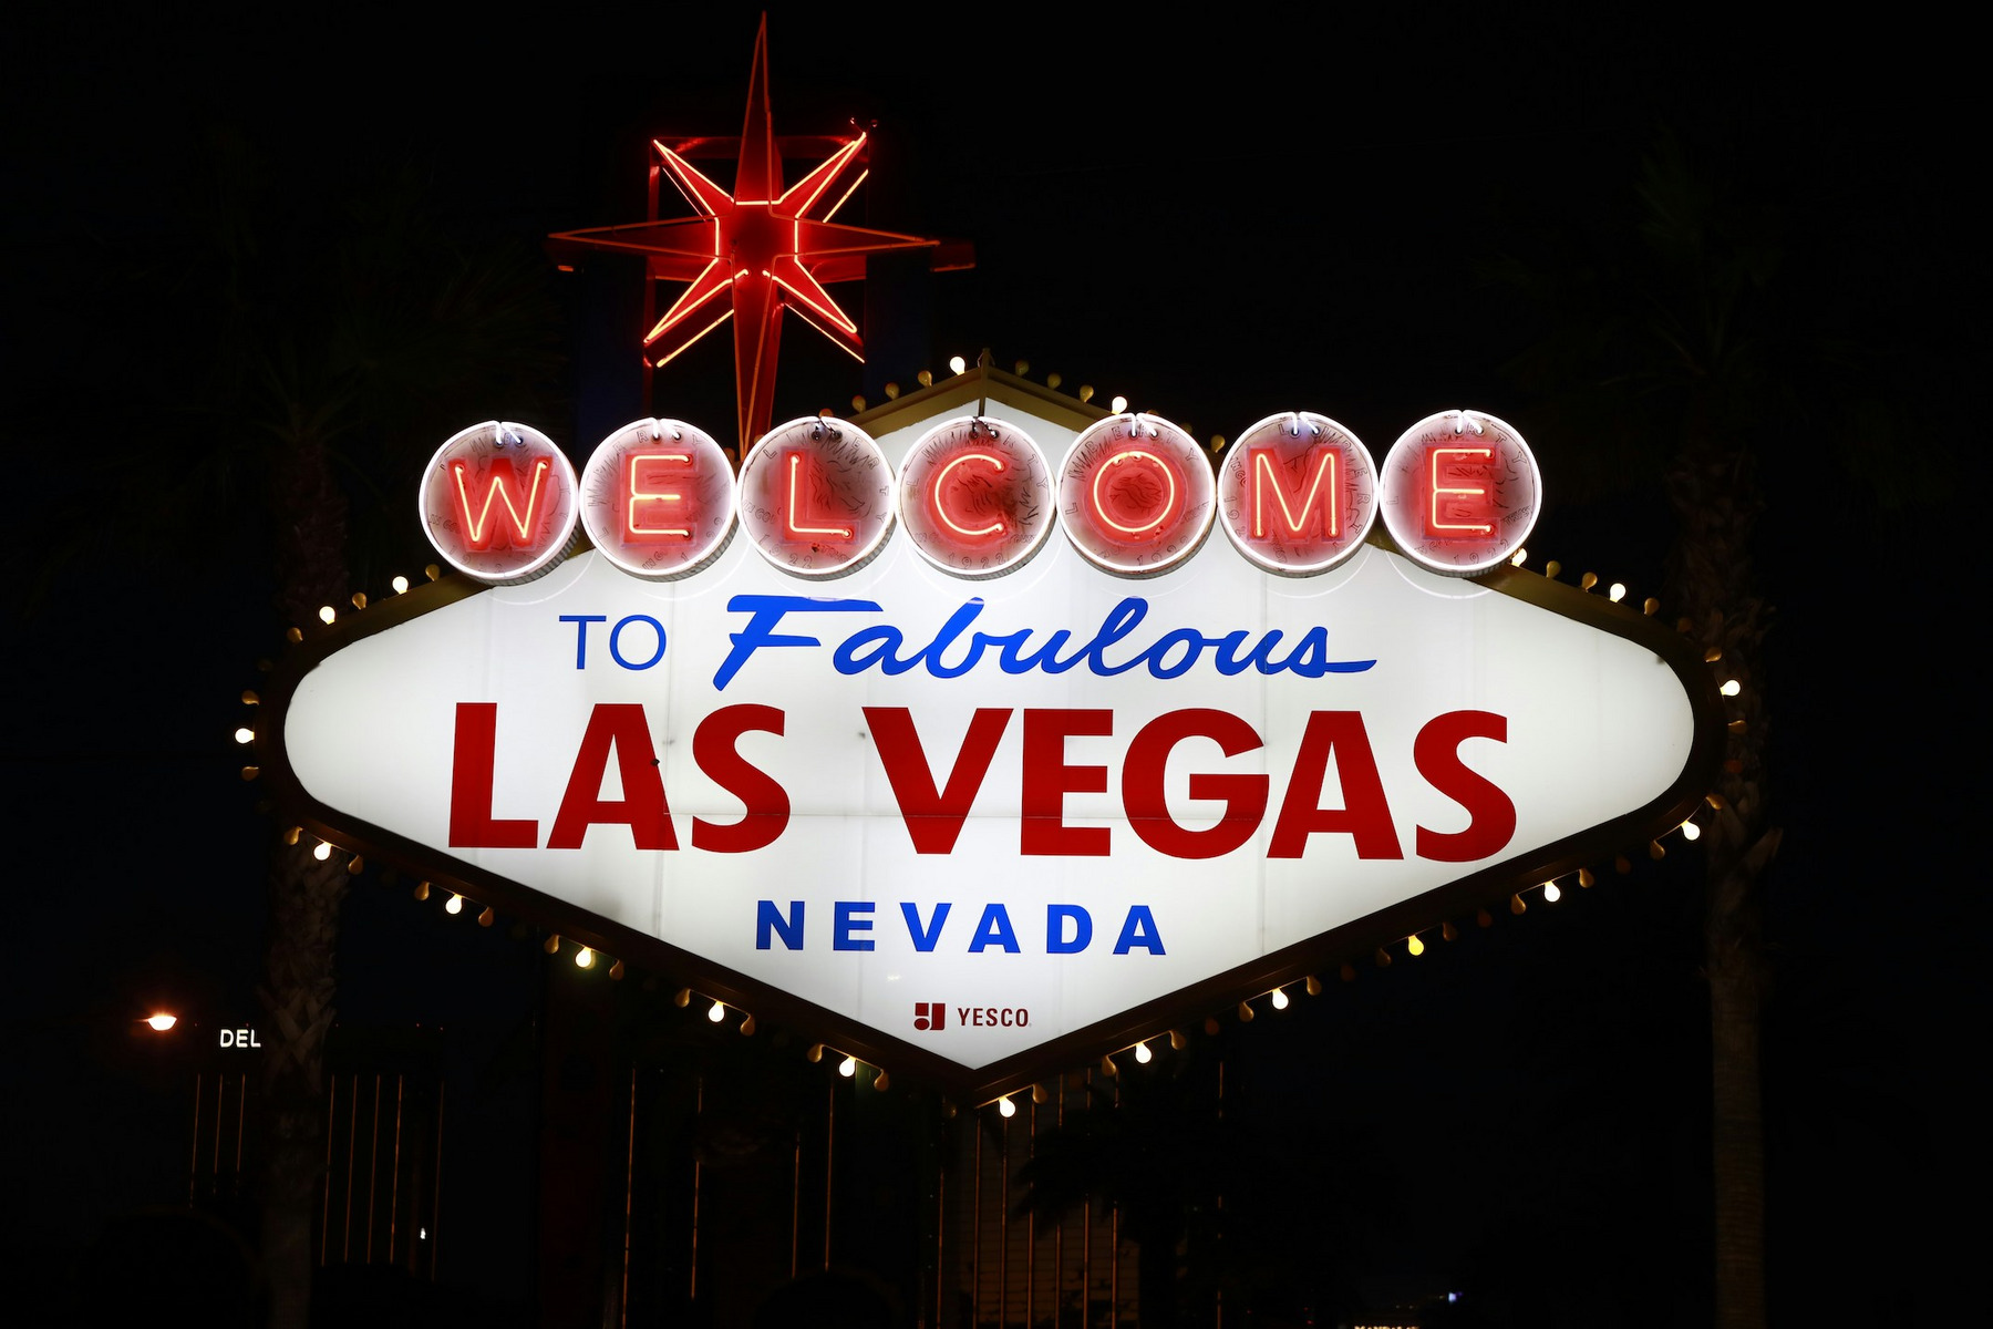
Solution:
[[[996,1094],[1708,789],[1700,660],[1505,562],[1539,502],[1509,424],[1439,414],[1373,460],[1276,414],[1214,474],[1168,420],[971,377],[981,412],[957,381],[793,420],[737,478],[676,420],[578,482],[534,430],[464,430],[423,518],[486,584],[299,652],[259,739],[297,819]]]

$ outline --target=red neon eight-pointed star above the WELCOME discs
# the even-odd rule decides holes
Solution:
[[[664,143],[652,139],[652,147],[664,173],[700,215],[658,221],[654,185],[652,221],[562,231],[552,239],[642,253],[652,277],[692,283],[644,337],[644,357],[652,367],[670,363],[733,319],[733,377],[745,448],[767,432],[773,418],[781,311],[793,311],[863,363],[859,327],[823,283],[861,279],[867,253],[937,249],[941,241],[831,221],[865,181],[861,169],[849,185],[843,183],[865,151],[863,133],[797,183],[781,187],[781,151],[767,102],[767,16],[753,42],[733,193]]]

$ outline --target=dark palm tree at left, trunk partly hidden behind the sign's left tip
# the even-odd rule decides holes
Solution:
[[[329,185],[327,181],[337,181]],[[564,418],[550,269],[438,197],[415,161],[299,169],[215,132],[179,225],[114,269],[175,331],[140,369],[153,426],[108,460],[118,532],[183,546],[261,520],[277,622],[317,624],[389,566],[419,568],[407,494],[442,438],[482,418]],[[530,235],[530,229],[522,229]],[[173,456],[173,466],[159,466]],[[393,564],[389,564],[393,558]],[[375,572],[381,576],[375,576]],[[335,1018],[349,865],[273,833],[261,1259],[271,1323],[303,1325],[325,1160],[323,1050]]]

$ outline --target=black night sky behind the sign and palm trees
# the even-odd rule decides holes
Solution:
[[[1624,237],[1642,153],[1672,132],[1726,205],[1778,235],[1774,281],[1796,293],[1782,317],[1851,347],[1895,422],[1887,440],[1820,414],[1764,426],[1786,827],[1766,1012],[1774,1323],[1975,1305],[1979,1265],[1949,1213],[1977,1209],[1985,1162],[1967,907],[1985,707],[1961,614],[1971,518],[1951,504],[1973,478],[1947,484],[1945,466],[1971,428],[1959,389],[1979,377],[1985,257],[1967,243],[1981,116],[1947,66],[1955,34],[1676,10],[1612,28],[1499,8],[1230,6],[1226,26],[1220,10],[1074,10],[771,12],[777,132],[877,122],[853,219],[977,247],[925,309],[893,311],[875,347],[897,339],[907,359],[875,363],[871,383],[791,323],[777,418],[843,412],[983,347],[1200,436],[1299,406],[1381,454],[1413,420],[1477,406],[1543,458],[1533,562],[1658,594],[1658,488],[1594,484],[1584,438],[1535,428],[1549,408],[1509,367],[1553,311],[1493,273],[1517,255],[1576,267]],[[225,295],[175,265],[215,201],[213,143],[247,147],[259,215],[309,231],[361,181],[407,169],[466,243],[530,255],[548,231],[640,219],[650,135],[737,132],[755,12],[74,8],[10,42],[8,456],[34,544],[0,654],[0,1176],[30,1305],[62,1303],[62,1271],[112,1215],[181,1186],[179,1068],[132,1020],[161,1002],[209,1030],[257,1010],[269,821],[229,733],[285,628],[265,516],[217,502],[134,542],[96,502],[130,492],[134,466],[201,464],[173,375],[201,365]],[[566,359],[532,391],[556,414],[486,416],[528,418],[582,458],[636,414],[616,414],[634,377],[604,369],[580,279],[546,281]],[[656,410],[723,432],[723,339],[658,379]],[[371,502],[355,490],[357,510]],[[403,490],[383,502],[397,520],[413,508]],[[383,554],[355,590],[428,560],[413,520],[379,548],[403,562]],[[1240,1044],[1254,1112],[1311,1160],[1291,1203],[1319,1245],[1283,1257],[1333,1263],[1373,1303],[1491,1289],[1489,1323],[1708,1323],[1692,859],[1640,861],[1256,1024]],[[446,1026],[470,1074],[530,1018],[540,958],[504,927],[464,929],[365,881],[341,1018]],[[514,1108],[500,1088],[466,1120],[472,1154],[530,1148]],[[488,1231],[462,1239],[452,1277],[498,1301],[524,1295],[514,1182],[502,1162],[464,1168],[456,1192]]]

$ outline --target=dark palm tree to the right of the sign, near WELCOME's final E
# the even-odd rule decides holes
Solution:
[[[1768,765],[1774,616],[1752,558],[1760,476],[1798,460],[1802,444],[1846,446],[1842,420],[1867,420],[1865,444],[1889,442],[1889,412],[1850,400],[1871,381],[1851,343],[1824,331],[1806,307],[1814,287],[1790,277],[1782,215],[1742,193],[1740,179],[1708,173],[1662,135],[1630,217],[1491,273],[1549,327],[1513,365],[1543,397],[1533,438],[1559,454],[1557,474],[1592,494],[1660,484],[1674,516],[1664,604],[1740,685],[1702,843],[1722,1329],[1764,1325],[1764,897],[1782,829]]]

